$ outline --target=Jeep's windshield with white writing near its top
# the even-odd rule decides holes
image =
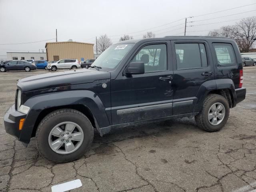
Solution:
[[[97,66],[107,69],[114,69],[118,66],[120,61],[128,53],[134,44],[115,44],[107,48],[100,56],[93,62],[91,66]]]

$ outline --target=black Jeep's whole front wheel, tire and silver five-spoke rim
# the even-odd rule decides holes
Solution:
[[[93,127],[88,118],[73,109],[60,109],[48,114],[36,131],[40,154],[63,163],[80,158],[93,140]]]

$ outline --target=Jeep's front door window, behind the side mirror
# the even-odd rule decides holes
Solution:
[[[144,62],[145,73],[167,70],[166,44],[144,46],[132,62]]]

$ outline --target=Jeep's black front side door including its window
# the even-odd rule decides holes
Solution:
[[[112,124],[172,115],[170,42],[143,44],[130,62],[144,62],[145,73],[121,71],[111,81]]]

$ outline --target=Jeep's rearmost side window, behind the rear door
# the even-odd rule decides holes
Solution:
[[[229,43],[213,43],[218,66],[236,65],[234,49]]]

